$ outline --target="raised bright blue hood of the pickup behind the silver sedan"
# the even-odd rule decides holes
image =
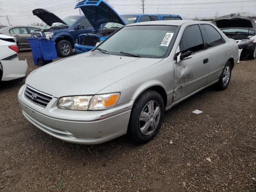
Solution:
[[[103,0],[84,0],[75,6],[80,8],[94,29],[101,24],[112,22],[126,25],[121,16]]]

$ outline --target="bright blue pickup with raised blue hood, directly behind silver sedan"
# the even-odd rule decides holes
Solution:
[[[104,41],[126,24],[158,20],[182,20],[180,15],[173,14],[125,14],[120,16],[103,0],[85,0],[78,3],[75,8],[82,10],[95,29],[93,33],[84,33],[77,37],[75,50],[78,54],[94,49],[97,43]]]

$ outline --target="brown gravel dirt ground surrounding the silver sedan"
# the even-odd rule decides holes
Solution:
[[[28,74],[37,68],[30,51],[19,57]],[[145,145],[126,136],[93,146],[49,136],[22,116],[23,84],[0,84],[0,192],[256,191],[256,60],[238,64],[225,91],[207,88],[166,112]]]

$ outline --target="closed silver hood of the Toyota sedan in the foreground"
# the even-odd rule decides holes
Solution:
[[[34,70],[26,79],[26,84],[56,98],[94,95],[161,60],[88,52]]]

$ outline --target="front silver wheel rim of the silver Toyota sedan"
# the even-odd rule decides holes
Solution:
[[[158,102],[151,100],[144,106],[139,118],[139,128],[143,135],[148,136],[154,132],[158,126],[160,114],[161,110]]]

